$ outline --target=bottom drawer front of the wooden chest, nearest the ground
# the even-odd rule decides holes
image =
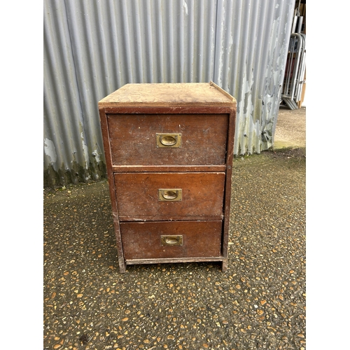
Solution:
[[[221,221],[120,223],[125,259],[220,257]]]

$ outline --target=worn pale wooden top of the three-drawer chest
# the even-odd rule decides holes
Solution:
[[[228,92],[210,83],[150,83],[127,84],[99,101],[99,106],[136,105],[236,105]]]

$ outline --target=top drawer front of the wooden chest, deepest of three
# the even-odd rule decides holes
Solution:
[[[224,165],[228,114],[109,114],[113,165]]]

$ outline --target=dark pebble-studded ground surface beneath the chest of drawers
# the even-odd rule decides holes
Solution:
[[[235,158],[228,271],[120,274],[106,181],[44,190],[43,349],[306,349],[305,149]]]

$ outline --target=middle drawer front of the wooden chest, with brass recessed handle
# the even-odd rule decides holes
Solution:
[[[117,173],[120,221],[221,220],[225,173]]]

